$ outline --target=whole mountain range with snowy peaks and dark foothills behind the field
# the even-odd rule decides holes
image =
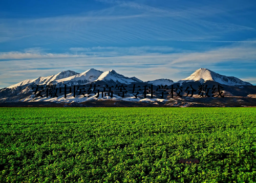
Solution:
[[[113,95],[113,98],[105,96],[103,98],[97,98],[97,95],[91,95],[88,97],[73,97],[73,88],[72,93],[68,94],[67,97],[64,97],[64,94],[59,94],[55,98],[47,98],[46,95],[41,97],[35,97],[33,95],[32,87],[39,85],[46,87],[49,84],[57,85],[57,87],[69,86],[73,87],[74,85],[90,85],[96,84],[100,85],[99,89],[102,89],[101,86],[113,85],[127,85],[127,87],[132,87],[134,84],[144,86],[144,85],[154,85],[157,88],[158,85],[175,85],[183,88],[193,87],[198,88],[201,84],[212,86],[223,86],[225,98],[214,98],[214,97],[205,97],[200,98],[199,95],[194,97],[174,97],[171,98],[169,95],[160,97],[157,94],[156,90],[154,98],[150,97],[150,94],[147,94],[147,98],[143,97],[143,94],[140,93],[136,98],[131,91],[128,91],[124,94],[124,97]],[[89,90],[89,86],[86,86],[85,89]],[[131,89],[131,88],[129,88]],[[126,88],[127,90],[127,88]],[[169,91],[169,90],[167,90]],[[177,94],[177,93],[175,93]],[[184,93],[186,94],[186,92]],[[20,103],[20,102],[29,102],[30,104],[35,102],[40,102],[44,105],[46,103],[59,104],[63,106],[92,106],[94,103],[98,103],[96,106],[256,106],[256,86],[242,81],[236,77],[224,76],[213,71],[208,70],[207,68],[199,68],[189,77],[174,82],[170,79],[156,79],[153,81],[142,81],[136,77],[126,77],[121,74],[118,74],[114,70],[111,71],[98,71],[94,68],[91,68],[83,73],[77,73],[74,71],[63,71],[56,75],[51,75],[47,77],[38,77],[36,79],[27,79],[17,84],[11,85],[9,87],[0,89],[0,103]],[[176,95],[175,95],[176,96]],[[238,102],[236,102],[238,101]],[[110,104],[111,103],[111,104]],[[127,103],[127,105],[125,104]],[[107,105],[108,104],[108,105]],[[48,104],[49,105],[49,104]],[[1,106],[1,105],[0,105]],[[95,106],[95,105],[93,105]]]

